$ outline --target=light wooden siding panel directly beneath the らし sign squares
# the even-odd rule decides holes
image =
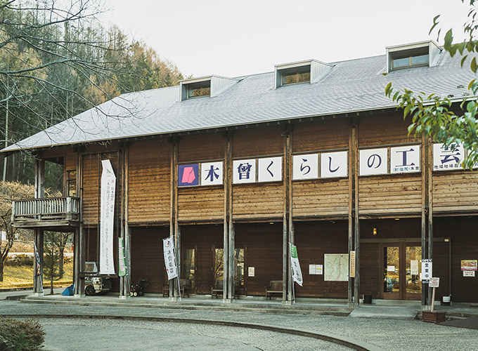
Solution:
[[[292,183],[292,215],[343,216],[349,211],[349,180],[301,180]]]

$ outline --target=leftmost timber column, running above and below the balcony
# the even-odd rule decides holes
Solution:
[[[45,161],[43,159],[35,159],[35,199],[40,199],[45,195]],[[34,241],[37,246],[39,262],[34,259],[34,279],[33,293],[34,296],[43,296],[43,229],[35,228]],[[37,275],[37,272],[40,274]]]

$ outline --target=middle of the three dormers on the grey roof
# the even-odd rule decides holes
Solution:
[[[316,83],[333,66],[317,60],[305,60],[299,62],[276,65],[275,84],[276,88],[288,84]]]

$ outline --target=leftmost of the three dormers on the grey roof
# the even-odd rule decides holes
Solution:
[[[240,81],[240,79],[219,76],[183,79],[179,82],[179,86],[181,87],[181,101],[204,96],[217,96],[238,81]]]

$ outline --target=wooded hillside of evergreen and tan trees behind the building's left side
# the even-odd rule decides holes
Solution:
[[[103,27],[99,6],[96,0],[0,0],[1,147],[122,93],[183,79],[146,44],[119,27]],[[0,179],[31,183],[33,162],[26,153],[0,156]]]

